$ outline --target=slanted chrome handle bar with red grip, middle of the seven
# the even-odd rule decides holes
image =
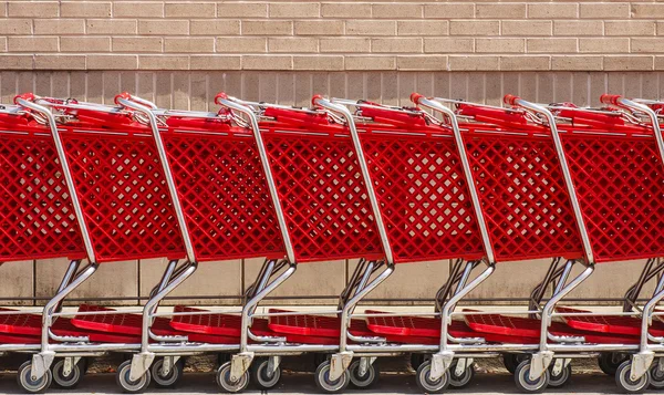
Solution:
[[[369,165],[366,164],[366,158],[364,157],[364,149],[362,148],[362,142],[360,141],[357,128],[355,127],[355,119],[353,118],[353,114],[351,114],[351,111],[346,106],[332,103],[329,100],[324,98],[322,95],[314,95],[311,98],[311,104],[313,104],[314,107],[323,108],[328,112],[339,114],[345,118],[346,125],[351,132],[353,147],[355,149],[355,155],[357,155],[357,164],[360,165],[360,170],[362,171],[362,178],[364,180],[364,186],[366,187],[369,201],[371,202],[371,208],[374,215],[374,219],[376,221],[376,227],[378,228],[378,233],[381,235],[381,242],[383,245],[383,252],[385,253],[385,261],[388,266],[393,266],[394,254],[392,253],[392,246],[387,237],[385,224],[383,222],[381,206],[376,197],[374,184],[371,179],[371,173],[369,173]]]

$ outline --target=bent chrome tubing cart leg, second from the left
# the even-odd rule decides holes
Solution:
[[[177,261],[168,262],[168,267],[166,271],[174,271],[174,263]],[[129,370],[129,380],[137,381],[139,380],[145,372],[152,365],[155,353],[149,351],[149,340],[154,336],[151,336],[151,326],[154,320],[154,314],[156,313],[158,303],[166,298],[173,290],[175,290],[179,284],[181,284],[185,280],[187,280],[196,269],[198,268],[197,262],[186,262],[183,266],[183,270],[178,270],[178,274],[166,281],[166,276],[162,278],[162,283],[159,287],[159,291],[152,297],[143,306],[143,321],[142,321],[142,331],[141,331],[141,352],[134,354],[132,357],[132,367]]]

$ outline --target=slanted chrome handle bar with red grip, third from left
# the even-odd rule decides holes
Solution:
[[[245,105],[242,101],[237,100],[235,97],[230,97],[225,92],[219,92],[215,96],[215,104],[229,110],[236,110],[249,117],[249,121],[251,123],[251,131],[253,133],[253,138],[256,139],[256,146],[258,148],[258,154],[262,165],[263,174],[266,176],[266,181],[268,183],[268,189],[270,190],[270,197],[272,198],[272,206],[274,207],[274,214],[277,215],[277,221],[279,222],[279,229],[281,230],[281,238],[283,239],[286,256],[291,264],[295,264],[295,251],[293,249],[290,233],[288,232],[288,225],[286,224],[283,206],[281,205],[281,201],[279,199],[279,191],[277,190],[277,184],[274,183],[274,177],[272,176],[270,158],[268,157],[266,144],[262,139],[262,134],[260,133],[260,126],[258,125],[258,116],[249,106]]]

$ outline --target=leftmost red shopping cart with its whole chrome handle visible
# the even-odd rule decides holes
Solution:
[[[48,125],[44,132],[52,135],[50,138],[54,144],[54,153],[58,153],[58,162],[62,164],[61,177],[69,187],[72,205],[69,216],[75,214],[90,262],[82,269],[79,269],[80,260],[72,263],[68,270],[71,280],[44,308],[41,352],[25,367],[30,378],[27,385],[29,391],[33,391],[49,385],[48,368],[53,356],[64,353],[64,364],[71,366],[75,365],[73,361],[82,356],[139,349],[141,335],[126,328],[127,322],[137,315],[86,306],[76,313],[56,311],[62,300],[90,278],[100,263],[168,257],[168,270],[173,272],[185,252],[151,129],[134,118],[134,114],[32,94],[18,96],[17,103]],[[178,270],[186,270],[186,267]],[[166,284],[164,282],[162,287]],[[51,329],[61,318],[71,315],[75,315],[71,324],[85,333],[85,337],[52,335]],[[108,325],[114,330],[108,331]],[[89,332],[110,332],[112,335],[102,339],[101,344],[93,344],[93,336]],[[168,336],[178,334],[174,330],[167,333]],[[51,343],[50,340],[61,343]],[[159,337],[156,340],[165,341]],[[127,361],[120,366],[122,376],[128,377],[129,365],[131,361]],[[20,377],[24,376],[22,372],[19,374]],[[77,384],[81,375],[74,377],[76,380],[69,380],[69,386]],[[134,381],[132,385],[135,389],[144,385],[144,381]]]

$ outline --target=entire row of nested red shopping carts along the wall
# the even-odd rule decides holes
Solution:
[[[564,385],[571,360],[589,356],[625,391],[664,386],[662,104],[412,100],[315,96],[295,108],[219,94],[206,113],[126,93],[115,106],[18,96],[0,112],[0,260],[71,259],[41,318],[0,311],[0,350],[31,354],[20,386],[71,388],[107,352],[132,355],[117,368],[128,393],[175,385],[200,353],[219,354],[226,392],[274,387],[281,358],[302,353],[315,353],[325,393],[371,386],[376,358],[403,353],[426,393],[467,385],[475,358],[499,355],[525,392]],[[240,309],[158,309],[199,262],[256,257]],[[98,264],[146,258],[167,264],[141,310],[61,309]],[[528,318],[457,308],[510,270],[497,263],[539,258],[551,266]],[[299,263],[343,259],[360,262],[336,306],[258,313]],[[447,259],[435,311],[355,311],[397,264]],[[559,305],[596,263],[624,260],[642,274],[622,313]]]

